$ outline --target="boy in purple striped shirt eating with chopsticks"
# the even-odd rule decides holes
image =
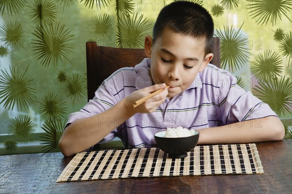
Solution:
[[[199,130],[198,144],[283,139],[283,125],[270,107],[241,89],[230,73],[209,64],[213,32],[212,17],[198,4],[165,6],[153,39],[145,38],[147,58],[113,73],[83,109],[70,114],[59,142],[62,153],[70,156],[115,136],[125,147],[156,146],[156,132],[179,126]]]

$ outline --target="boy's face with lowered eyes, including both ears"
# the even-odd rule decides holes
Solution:
[[[151,75],[155,84],[169,85],[168,98],[172,98],[186,88],[213,58],[212,53],[205,55],[205,38],[173,32],[166,28],[157,38],[145,38],[145,52],[151,58]]]

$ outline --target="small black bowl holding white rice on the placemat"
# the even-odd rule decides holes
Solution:
[[[169,158],[184,158],[187,152],[197,146],[199,141],[199,131],[195,130],[195,135],[188,137],[163,137],[166,131],[156,133],[155,140],[157,146],[168,153]]]

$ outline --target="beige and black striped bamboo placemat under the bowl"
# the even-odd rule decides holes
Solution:
[[[84,151],[57,182],[73,180],[215,174],[263,174],[256,144],[196,146],[183,159],[158,148]]]

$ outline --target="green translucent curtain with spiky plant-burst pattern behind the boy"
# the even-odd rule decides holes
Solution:
[[[0,0],[0,145],[59,151],[87,102],[85,43],[143,48],[173,0]],[[213,16],[221,66],[268,103],[292,138],[292,0],[190,0]],[[29,150],[28,150],[29,152]]]

